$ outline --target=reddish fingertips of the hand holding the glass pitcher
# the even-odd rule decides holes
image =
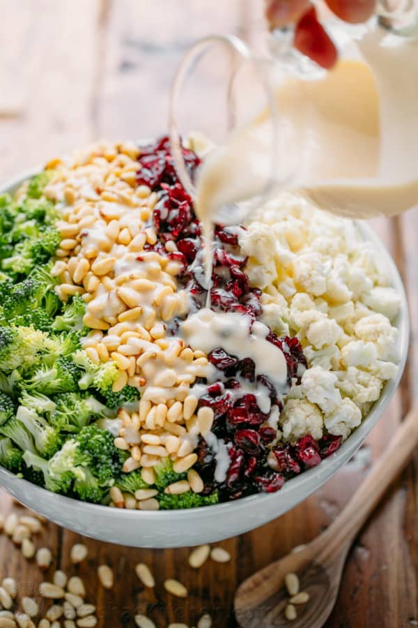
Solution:
[[[323,68],[330,69],[337,58],[336,47],[318,21],[309,0],[265,0],[265,15],[270,29],[295,24],[294,45]],[[344,22],[357,24],[373,15],[376,0],[325,0],[333,13]]]

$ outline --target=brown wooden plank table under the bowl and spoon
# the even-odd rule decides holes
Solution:
[[[258,46],[261,0],[0,0],[0,177],[2,180],[61,151],[98,137],[127,139],[163,133],[167,90],[189,43],[230,31]],[[235,626],[237,583],[293,546],[309,541],[336,516],[385,448],[417,390],[418,214],[375,223],[408,289],[412,339],[401,387],[371,438],[345,468],[311,498],[279,520],[224,541],[228,565],[187,567],[188,550],[132,550],[84,539],[89,559],[79,569],[100,626],[133,626],[132,614],[148,611],[158,627],[196,625],[203,611],[215,628]],[[336,608],[327,628],[397,628],[418,625],[418,456],[394,484],[350,554]],[[17,509],[5,494],[0,511]],[[72,571],[70,547],[80,537],[47,525],[38,545],[54,551],[54,566]],[[98,562],[113,565],[111,592],[98,586]],[[134,565],[147,562],[155,591],[145,591]],[[33,592],[42,574],[0,537],[0,576],[15,576]],[[162,582],[178,577],[187,601],[168,599]],[[309,628],[309,627],[307,627]]]

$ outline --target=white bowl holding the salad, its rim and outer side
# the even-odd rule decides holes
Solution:
[[[19,179],[2,186],[0,193],[11,192],[22,181],[38,172],[28,172]],[[409,344],[408,304],[398,269],[380,239],[369,225],[359,223],[364,239],[373,241],[389,268],[392,285],[401,296],[401,309],[396,321],[399,329],[401,361],[398,375],[389,380],[380,399],[368,416],[350,435],[335,454],[309,471],[288,480],[278,493],[251,495],[250,497],[188,510],[137,511],[87,504],[49,493],[30,482],[19,479],[0,468],[0,485],[27,507],[39,512],[54,523],[111,543],[134,547],[181,547],[220,541],[236,534],[258,528],[279,517],[314,493],[353,456],[355,451],[377,423],[394,395],[405,366]]]

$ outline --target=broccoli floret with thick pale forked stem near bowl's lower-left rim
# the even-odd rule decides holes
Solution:
[[[57,451],[55,456],[49,461],[45,460],[45,458],[41,458],[38,454],[33,454],[31,451],[25,451],[23,460],[26,464],[26,468],[28,468],[28,472],[24,472],[24,477],[29,479],[29,481],[33,481],[33,484],[41,484],[39,474],[36,474],[36,471],[40,471],[43,476],[42,484],[48,491],[66,495],[70,491],[74,479],[72,470],[68,469],[66,465],[67,452],[65,451],[63,453],[66,444],[67,443],[65,443],[63,448]],[[35,472],[34,477],[31,477],[31,472],[32,474]]]

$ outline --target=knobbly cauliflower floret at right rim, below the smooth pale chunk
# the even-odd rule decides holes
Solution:
[[[387,317],[382,314],[364,316],[357,321],[354,331],[361,340],[376,345],[378,359],[389,362],[398,361],[399,331],[396,327],[392,327]]]

